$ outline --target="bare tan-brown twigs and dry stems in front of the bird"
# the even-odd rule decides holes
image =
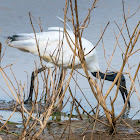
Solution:
[[[65,10],[64,10],[64,34],[65,34],[67,42],[68,42],[68,44],[69,44],[69,46],[70,46],[70,48],[71,48],[71,50],[73,51],[73,54],[74,54],[70,74],[69,74],[69,77],[66,78],[67,72],[66,72],[65,69],[63,69],[63,66],[62,66],[61,70],[59,70],[59,68],[57,68],[57,67],[55,67],[53,70],[51,68],[49,68],[49,69],[46,68],[46,70],[44,70],[43,75],[42,75],[42,80],[43,80],[43,85],[44,85],[43,94],[42,94],[41,98],[38,99],[39,98],[38,97],[38,93],[39,93],[39,91],[38,91],[39,90],[38,68],[37,68],[37,65],[35,64],[35,70],[34,70],[34,73],[36,75],[35,82],[34,82],[35,83],[35,86],[34,86],[35,98],[34,98],[34,102],[32,104],[32,108],[30,110],[27,110],[25,105],[24,105],[24,89],[25,89],[25,85],[21,85],[21,84],[19,84],[17,82],[16,77],[15,77],[14,73],[12,72],[11,65],[7,66],[7,67],[10,67],[11,72],[12,72],[12,74],[13,74],[13,76],[15,78],[15,81],[17,83],[18,90],[16,90],[17,87],[15,85],[13,85],[11,79],[9,79],[8,75],[5,73],[4,68],[0,67],[1,75],[3,76],[8,88],[9,88],[9,90],[11,92],[11,94],[14,97],[14,100],[16,101],[16,106],[13,109],[13,113],[16,110],[18,110],[20,112],[21,116],[22,116],[22,119],[23,119],[22,132],[21,132],[20,135],[17,135],[17,137],[19,137],[20,139],[38,139],[40,137],[40,135],[42,134],[43,130],[46,128],[47,123],[49,122],[50,116],[56,111],[61,112],[61,110],[65,107],[65,104],[63,105],[62,103],[63,103],[63,99],[64,99],[66,91],[69,91],[70,97],[72,98],[72,103],[71,103],[72,107],[71,107],[71,113],[70,113],[69,119],[68,119],[68,121],[67,121],[67,123],[65,125],[65,129],[64,129],[62,135],[60,136],[60,139],[63,137],[63,134],[65,133],[66,129],[68,129],[68,127],[71,124],[71,117],[72,117],[72,113],[73,113],[73,110],[74,110],[74,106],[76,107],[76,110],[77,110],[77,112],[79,114],[80,119],[83,119],[83,117],[81,115],[81,112],[79,111],[79,108],[82,109],[89,117],[91,117],[93,120],[95,120],[95,121],[92,122],[92,123],[94,123],[92,131],[91,131],[91,139],[92,139],[93,138],[92,133],[94,132],[94,130],[96,128],[96,123],[97,122],[100,122],[103,125],[105,125],[106,127],[108,127],[111,133],[116,132],[115,128],[116,128],[117,120],[120,118],[120,116],[124,113],[124,111],[126,109],[127,102],[129,100],[130,94],[132,93],[132,89],[135,89],[135,91],[137,93],[137,96],[138,96],[138,99],[140,100],[139,93],[138,93],[137,87],[135,85],[136,77],[139,79],[139,77],[138,77],[138,72],[139,72],[139,69],[140,69],[140,63],[139,63],[137,65],[137,70],[135,72],[134,77],[132,77],[131,74],[130,74],[131,69],[129,69],[129,72],[126,72],[126,74],[129,76],[129,78],[131,80],[131,87],[129,89],[128,97],[126,99],[126,102],[125,102],[122,110],[120,111],[120,114],[118,114],[117,116],[115,115],[115,113],[114,113],[115,112],[115,110],[114,110],[114,102],[115,102],[115,100],[116,100],[116,98],[118,96],[121,75],[122,75],[122,73],[124,71],[124,67],[127,64],[129,64],[128,59],[132,55],[135,55],[136,52],[139,51],[139,49],[136,50],[136,51],[133,51],[133,49],[134,49],[135,44],[136,44],[136,42],[137,42],[137,40],[139,38],[139,35],[140,35],[140,29],[139,29],[140,21],[137,23],[137,26],[133,30],[133,34],[130,35],[129,34],[129,28],[127,26],[127,19],[129,17],[128,16],[126,17],[125,13],[123,13],[124,14],[124,23],[123,23],[121,28],[118,27],[120,33],[116,37],[116,44],[115,44],[115,47],[114,47],[114,51],[115,51],[115,49],[116,49],[116,47],[118,45],[118,40],[119,40],[120,36],[122,36],[122,38],[123,38],[123,40],[125,42],[125,47],[126,47],[125,52],[123,52],[123,55],[124,55],[123,56],[123,63],[121,64],[121,68],[118,71],[118,74],[117,74],[114,82],[108,88],[108,91],[104,95],[102,94],[102,89],[99,86],[100,84],[98,85],[97,81],[94,80],[90,76],[90,74],[88,72],[87,64],[86,64],[86,61],[85,61],[85,54],[84,54],[83,49],[82,49],[81,38],[82,38],[82,34],[83,34],[84,29],[88,27],[88,24],[90,22],[90,14],[91,14],[93,8],[96,6],[97,2],[98,2],[98,0],[94,1],[93,5],[89,9],[89,13],[88,13],[87,17],[85,17],[85,20],[83,21],[82,24],[79,24],[77,0],[74,1],[74,4],[72,3],[72,0],[69,0],[70,5],[68,5],[68,0],[66,0]],[[68,8],[70,8],[72,19],[67,17]],[[35,32],[33,22],[32,22],[33,17],[31,16],[31,14],[29,14],[29,16],[30,16],[31,25],[32,25],[34,35],[35,35],[36,46],[38,48],[38,55],[39,55],[39,58],[40,58],[39,66],[41,66],[43,68],[45,66],[42,63],[42,58],[41,58],[41,55],[40,55],[40,50],[39,50],[39,46],[38,46],[38,40],[36,38],[36,32]],[[71,43],[70,43],[72,39],[70,38],[70,36],[69,36],[69,34],[68,34],[67,30],[66,30],[66,20],[67,19],[69,19],[69,21],[71,21],[71,24],[72,24],[72,27],[73,27],[73,32],[75,34],[75,41],[74,41],[75,42],[74,43],[75,48],[72,48]],[[108,24],[107,24],[107,26],[108,26]],[[40,26],[40,29],[42,31],[40,23],[39,23],[39,26]],[[105,30],[107,29],[107,26],[106,26]],[[123,31],[125,26],[127,27],[127,32],[129,34],[129,42],[128,43],[126,43],[125,37],[123,36],[123,33],[122,33],[122,31]],[[98,43],[102,40],[105,30],[103,31]],[[98,43],[97,43],[97,45],[98,45]],[[1,52],[1,46],[2,45],[0,44],[0,52]],[[62,49],[63,45],[60,45],[59,47]],[[110,61],[107,62],[108,68],[110,67],[110,63],[111,63],[111,60],[113,58],[113,55],[114,55],[114,52],[113,52],[113,54],[112,54],[112,56],[110,58]],[[75,74],[74,63],[75,63],[75,57],[76,56],[79,58],[79,60],[81,62],[81,66],[82,66],[82,68],[84,70],[84,74],[85,74],[84,77],[87,78],[87,80],[89,82],[89,85],[90,85],[90,88],[91,88],[91,91],[94,94],[95,99],[98,102],[96,109],[93,108],[91,106],[91,104],[88,102],[88,100],[86,99],[86,96],[84,95],[84,93],[82,92],[80,86],[78,85],[78,83],[76,82],[76,80],[73,77],[73,75]],[[58,58],[59,58],[59,52],[58,52]],[[54,60],[52,58],[52,60],[57,65],[57,59]],[[108,68],[107,68],[107,70],[108,70]],[[107,70],[106,70],[106,72],[107,72]],[[62,75],[60,75],[60,72],[61,72]],[[47,76],[46,76],[46,73],[47,73]],[[61,80],[59,80],[60,76],[62,76]],[[73,93],[72,93],[72,90],[71,90],[70,84],[69,84],[71,79],[74,79],[77,87],[79,87],[79,89],[81,90],[81,93],[84,95],[86,101],[91,106],[92,110],[93,111],[96,110],[95,111],[96,113],[95,113],[94,116],[90,115],[90,113],[88,113],[86,110],[84,110],[84,108],[82,107],[80,102],[78,102],[77,99],[73,96]],[[106,105],[106,99],[109,96],[110,91],[114,87],[114,85],[115,85],[117,80],[119,81],[118,84],[117,84],[117,90],[116,90],[114,98],[110,100],[111,109],[109,109],[107,107],[107,105]],[[37,102],[38,100],[40,100],[40,102]],[[69,100],[69,98],[68,98],[68,100]],[[44,102],[45,102],[45,104],[44,104]],[[108,120],[107,122],[100,119],[100,117],[99,117],[99,106],[101,106],[103,108],[104,113],[105,113],[105,117]],[[12,116],[12,114],[9,116],[9,118]],[[7,121],[0,128],[0,131],[3,130],[4,126],[6,126]],[[122,120],[122,121],[124,121],[124,120]],[[129,126],[129,124],[127,124],[126,122],[124,122],[124,123],[127,126]],[[131,128],[131,126],[129,126],[129,127]],[[88,130],[88,127],[85,127],[85,130],[83,131],[82,134],[84,134],[87,130]],[[140,132],[138,132],[137,130],[135,130],[135,132],[140,134]]]

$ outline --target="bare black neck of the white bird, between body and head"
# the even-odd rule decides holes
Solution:
[[[91,72],[92,75],[94,77],[97,77],[97,78],[101,78],[101,79],[105,79],[105,80],[108,80],[108,81],[114,81],[117,73],[115,72],[108,72],[108,73],[102,73],[102,72]]]

